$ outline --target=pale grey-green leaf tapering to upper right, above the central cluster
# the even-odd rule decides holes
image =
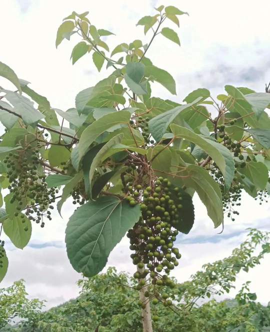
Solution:
[[[166,111],[162,114],[157,115],[149,121],[149,132],[152,134],[156,142],[159,142],[163,135],[165,134],[170,123],[175,119],[175,117],[184,109],[190,107],[199,101],[200,98],[197,98],[190,104],[177,106],[169,111]]]

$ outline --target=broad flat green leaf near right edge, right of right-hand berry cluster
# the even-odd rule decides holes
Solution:
[[[264,190],[268,182],[268,169],[262,162],[250,161],[246,163],[244,168],[240,169],[252,183],[256,189]]]

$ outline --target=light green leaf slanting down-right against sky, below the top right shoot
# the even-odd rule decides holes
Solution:
[[[154,81],[163,85],[163,87],[166,88],[172,95],[176,95],[175,81],[173,77],[165,70],[155,66],[146,66],[144,76],[152,76]]]

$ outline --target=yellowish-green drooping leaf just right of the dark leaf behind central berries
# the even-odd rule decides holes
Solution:
[[[183,178],[185,186],[196,190],[215,228],[218,227],[223,223],[222,198],[218,184],[209,173],[200,166],[188,165],[186,173],[189,177]],[[183,173],[183,175],[186,174]]]

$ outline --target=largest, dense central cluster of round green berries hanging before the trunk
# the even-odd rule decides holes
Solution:
[[[140,290],[148,282],[145,296],[152,299],[154,305],[158,301],[162,301],[164,306],[170,305],[167,294],[161,295],[156,286],[174,287],[166,274],[178,265],[176,259],[181,258],[178,249],[173,247],[178,230],[172,228],[177,228],[179,223],[182,194],[162,177],[155,181],[153,187],[142,188],[140,184],[132,186],[129,183],[125,189],[129,192],[127,200],[130,206],[139,204],[141,209],[139,221],[127,233],[130,249],[135,251],[130,255],[133,264],[138,269],[143,268],[144,264],[147,267],[141,273],[134,273],[134,278],[139,280],[136,289]],[[162,271],[165,274],[161,275]],[[145,305],[140,301],[138,304],[142,307]]]

